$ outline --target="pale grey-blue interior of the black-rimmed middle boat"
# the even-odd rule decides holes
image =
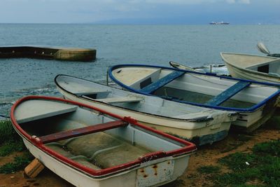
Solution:
[[[80,78],[73,78],[71,76],[58,77],[56,83],[64,88],[64,90],[78,95],[78,97],[92,101],[106,102],[113,106],[120,106],[133,111],[183,119],[207,118],[210,115],[209,109],[203,109],[197,106],[186,107],[186,104],[109,88],[106,85]]]

